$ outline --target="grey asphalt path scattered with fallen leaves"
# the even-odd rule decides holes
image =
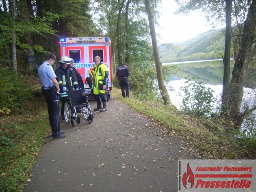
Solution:
[[[195,159],[188,142],[114,97],[93,115],[74,127],[61,120],[67,137],[49,134],[24,192],[177,192],[178,159]]]

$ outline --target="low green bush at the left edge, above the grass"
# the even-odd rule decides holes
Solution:
[[[21,112],[24,102],[32,99],[31,91],[20,74],[8,68],[0,68],[0,90],[0,115],[14,112],[17,107]]]

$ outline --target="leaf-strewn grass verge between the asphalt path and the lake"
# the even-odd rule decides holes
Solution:
[[[178,112],[175,108],[163,106],[154,101],[141,101],[130,93],[129,98],[121,96],[121,90],[113,88],[112,93],[122,102],[141,112],[154,122],[155,126],[168,134],[176,134],[189,140],[195,155],[208,159],[255,159],[253,146],[234,138],[230,130],[214,125],[211,120]]]

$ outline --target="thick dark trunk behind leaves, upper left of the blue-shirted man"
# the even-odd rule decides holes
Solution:
[[[25,22],[29,22],[29,10],[28,10],[28,3],[27,0],[22,0],[21,1],[21,13],[22,13],[22,19]],[[32,40],[32,34],[31,32],[26,32],[23,38],[23,41],[25,44],[28,44],[30,48],[28,48],[25,53],[25,67],[26,69],[29,69],[30,71],[33,71],[36,67],[36,62],[35,62],[35,56],[34,56],[34,47],[33,47],[33,40]]]

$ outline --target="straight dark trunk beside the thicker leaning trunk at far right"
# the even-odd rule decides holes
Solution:
[[[232,40],[232,0],[226,0],[226,34],[225,34],[225,48],[223,58],[223,84],[222,84],[222,97],[221,109],[222,113],[227,111],[228,101],[228,88],[230,82],[230,50]]]

